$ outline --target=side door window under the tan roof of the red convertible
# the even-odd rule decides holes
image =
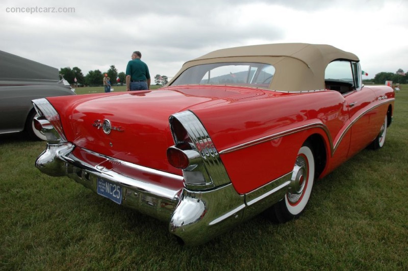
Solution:
[[[357,69],[358,70],[358,69]],[[356,85],[355,67],[350,61],[336,60],[329,63],[324,72],[324,82],[326,89],[335,90],[341,94],[353,91]]]

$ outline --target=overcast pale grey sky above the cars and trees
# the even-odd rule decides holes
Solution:
[[[304,42],[355,53],[369,74],[363,78],[372,78],[408,70],[407,34],[407,0],[0,3],[0,50],[58,69],[77,66],[84,75],[110,65],[125,71],[135,50],[152,77],[172,77],[184,62],[216,49]]]

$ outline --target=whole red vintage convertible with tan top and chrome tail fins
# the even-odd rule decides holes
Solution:
[[[221,49],[154,91],[34,100],[36,167],[169,223],[198,245],[266,211],[298,218],[315,179],[384,145],[394,91],[359,59],[304,43]]]

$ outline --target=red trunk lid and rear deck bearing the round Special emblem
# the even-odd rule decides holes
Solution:
[[[260,90],[172,87],[156,91],[47,98],[75,146],[137,165],[181,174],[168,164],[173,139],[169,117],[177,112],[259,96]],[[103,123],[110,122],[106,133]]]

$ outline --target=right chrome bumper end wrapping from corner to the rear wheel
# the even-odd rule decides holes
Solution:
[[[232,183],[211,191],[183,189],[170,219],[170,233],[186,245],[200,245],[282,200],[292,172],[255,191],[239,195]]]

